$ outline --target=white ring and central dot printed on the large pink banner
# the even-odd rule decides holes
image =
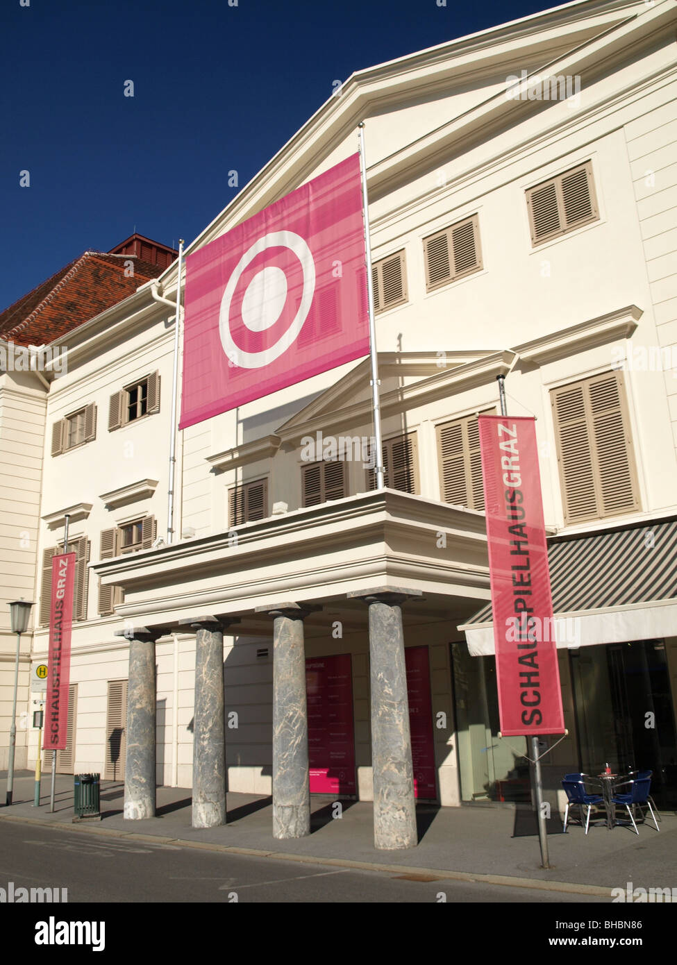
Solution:
[[[303,293],[296,316],[287,331],[282,335],[275,345],[270,345],[259,352],[247,352],[240,348],[233,341],[230,325],[230,311],[233,295],[240,281],[240,275],[246,266],[252,262],[257,255],[266,251],[268,248],[289,248],[294,252],[296,258],[301,263],[303,269]],[[270,265],[258,272],[247,286],[242,299],[242,322],[252,332],[262,332],[268,329],[279,317],[287,298],[287,278],[284,276],[284,297],[281,297],[282,286],[279,275],[284,276],[284,272],[277,266]],[[263,277],[262,277],[263,276]],[[251,293],[250,293],[251,292]],[[298,333],[303,327],[310,306],[315,294],[315,262],[310,248],[300,236],[295,232],[271,232],[258,238],[251,247],[244,252],[240,261],[235,266],[233,274],[228,279],[228,284],[221,298],[221,310],[219,313],[218,327],[221,335],[221,345],[228,356],[229,361],[239,366],[240,369],[262,369],[270,365],[275,359],[287,351],[292,345]],[[269,295],[268,304],[266,299]],[[262,312],[262,307],[264,311]],[[277,309],[277,316],[272,317],[273,311]]]

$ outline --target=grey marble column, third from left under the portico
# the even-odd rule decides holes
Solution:
[[[303,620],[317,606],[281,603],[257,607],[273,618],[272,836],[310,834],[308,712]]]

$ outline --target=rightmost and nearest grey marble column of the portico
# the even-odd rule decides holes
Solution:
[[[369,606],[374,846],[415,847],[416,811],[409,733],[402,604],[415,590],[379,587],[349,593]]]

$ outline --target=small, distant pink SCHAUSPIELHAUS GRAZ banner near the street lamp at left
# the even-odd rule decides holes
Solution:
[[[52,595],[49,604],[49,657],[45,694],[45,751],[66,748],[71,680],[72,596],[75,554],[52,557]]]

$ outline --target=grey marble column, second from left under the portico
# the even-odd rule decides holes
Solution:
[[[226,823],[226,733],[223,633],[239,618],[180,620],[195,631],[192,826]]]

